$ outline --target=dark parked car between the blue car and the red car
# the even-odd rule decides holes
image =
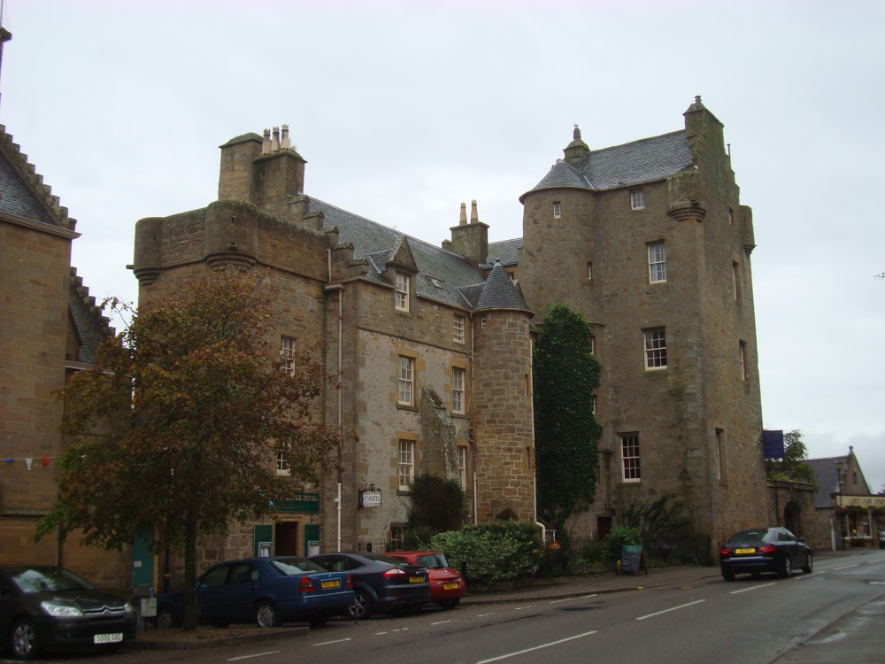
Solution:
[[[375,611],[417,612],[430,601],[427,567],[381,553],[323,553],[311,560],[353,577],[350,617],[365,620]]]

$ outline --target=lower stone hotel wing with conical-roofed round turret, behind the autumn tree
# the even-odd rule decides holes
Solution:
[[[336,376],[315,414],[344,433],[342,471],[319,487],[293,481],[293,493],[319,493],[319,513],[281,513],[271,552],[309,552],[317,525],[325,551],[339,532],[342,549],[398,539],[408,476],[422,472],[461,480],[474,520],[534,521],[532,313],[502,266],[481,270],[488,227],[475,203],[452,229],[466,256],[446,251],[305,196],[306,162],[286,143],[247,134],[222,145],[219,200],[140,220],[131,266],[140,302],[218,266],[266,271],[273,334],[317,344]],[[367,489],[381,490],[380,506],[360,505]],[[249,535],[207,539],[201,555],[251,554]]]

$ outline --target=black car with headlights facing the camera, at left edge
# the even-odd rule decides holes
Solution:
[[[0,636],[13,657],[46,648],[118,650],[135,638],[135,608],[54,565],[0,566]]]

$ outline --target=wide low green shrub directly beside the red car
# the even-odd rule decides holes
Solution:
[[[440,533],[430,540],[430,548],[445,553],[453,567],[466,560],[470,581],[493,584],[535,574],[538,535],[528,523],[491,521]]]

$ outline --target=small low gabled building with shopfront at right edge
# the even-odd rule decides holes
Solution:
[[[807,459],[818,489],[814,494],[815,528],[825,537],[820,548],[848,549],[875,546],[885,529],[885,496],[874,495],[866,483],[854,447],[843,457]]]

